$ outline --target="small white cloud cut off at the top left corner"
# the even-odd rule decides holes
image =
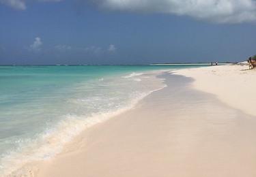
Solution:
[[[26,1],[28,0],[0,0],[0,4],[8,5],[16,10],[25,10],[27,8]],[[38,2],[60,2],[62,0],[31,0]]]

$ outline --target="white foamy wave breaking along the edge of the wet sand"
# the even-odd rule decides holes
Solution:
[[[140,75],[142,74],[132,73],[129,77]],[[144,93],[134,93],[132,99],[126,103],[126,106],[121,108],[115,107],[112,110],[91,114],[91,116],[67,114],[63,116],[57,125],[48,126],[51,128],[36,135],[36,138],[18,140],[18,148],[1,157],[0,176],[29,176],[30,170],[33,168],[32,162],[51,159],[63,150],[64,144],[73,140],[76,135],[79,135],[88,127],[130,110],[141,99],[159,89],[161,88]],[[80,99],[78,101],[83,102],[86,100]]]

